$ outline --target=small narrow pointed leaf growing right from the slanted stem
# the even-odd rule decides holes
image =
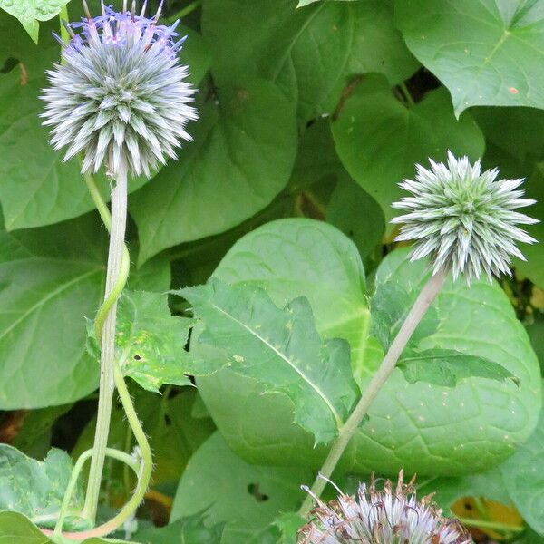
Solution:
[[[455,387],[461,380],[471,377],[487,380],[519,380],[504,366],[483,357],[467,355],[452,349],[426,349],[421,352],[407,350],[403,353],[398,367],[403,371],[408,384],[427,384]]]

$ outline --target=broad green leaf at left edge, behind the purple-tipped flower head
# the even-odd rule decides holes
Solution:
[[[48,39],[51,45],[20,53],[17,60],[24,68],[0,73],[0,202],[7,230],[50,225],[94,209],[78,160],[63,162],[63,152],[53,150],[38,117],[44,109],[38,98],[47,85],[44,71],[60,55],[53,37]],[[96,180],[109,199],[105,175],[97,175]],[[145,181],[130,180],[130,190]]]

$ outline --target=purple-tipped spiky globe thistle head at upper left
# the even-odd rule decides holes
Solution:
[[[180,141],[191,139],[188,121],[197,119],[189,69],[177,57],[179,22],[158,24],[160,8],[148,18],[145,3],[139,15],[126,0],[121,12],[102,4],[95,17],[84,7],[81,22],[65,24],[63,63],[47,72],[44,125],[53,127],[55,150],[67,148],[64,160],[83,153],[83,172],[105,163],[113,177],[121,167],[149,176],[176,157]]]

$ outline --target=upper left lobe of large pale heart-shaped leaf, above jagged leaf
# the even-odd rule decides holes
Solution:
[[[263,287],[276,306],[306,296],[320,335],[343,336],[353,369],[364,367],[370,317],[364,269],[354,243],[338,229],[311,219],[267,223],[238,240],[214,277]]]

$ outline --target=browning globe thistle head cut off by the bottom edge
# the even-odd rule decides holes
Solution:
[[[313,519],[299,529],[298,544],[471,543],[457,520],[442,518],[430,495],[417,500],[413,481],[404,484],[401,471],[397,484],[387,480],[383,489],[377,488],[373,476],[369,486],[359,486],[355,497],[338,489],[337,500],[329,503],[314,497]]]

